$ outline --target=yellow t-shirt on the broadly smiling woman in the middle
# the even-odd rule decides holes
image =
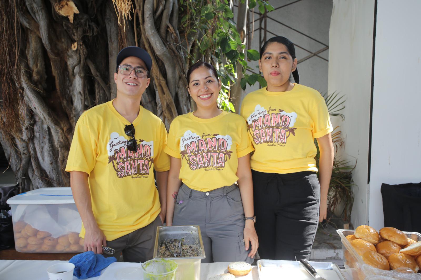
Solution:
[[[234,184],[238,158],[253,151],[253,146],[244,119],[222,111],[211,119],[193,113],[176,117],[164,151],[181,158],[179,179],[184,184],[207,192]]]

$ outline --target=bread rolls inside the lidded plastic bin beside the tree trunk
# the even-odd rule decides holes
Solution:
[[[29,253],[63,253],[83,252],[83,238],[79,233],[70,232],[59,238],[51,237],[50,232],[39,231],[24,221],[13,225],[15,247],[19,252]]]

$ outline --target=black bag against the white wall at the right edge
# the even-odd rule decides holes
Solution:
[[[421,232],[421,183],[381,184],[384,226]]]

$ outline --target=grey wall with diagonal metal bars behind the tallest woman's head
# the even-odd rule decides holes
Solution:
[[[271,0],[269,3],[278,8],[280,6],[292,3],[294,0]],[[258,11],[257,7],[255,11]],[[303,0],[297,3],[293,3],[284,8],[272,11],[268,13],[269,17],[276,19],[288,26],[307,34],[314,39],[329,45],[329,23],[330,14],[332,12],[332,1],[331,0]],[[255,19],[258,15],[255,15]],[[255,29],[258,28],[258,22],[255,23]],[[277,34],[278,36],[284,36],[291,40],[291,42],[316,52],[324,48],[324,46],[308,37],[295,32],[281,24],[267,19],[267,30]],[[269,32],[266,35],[266,39],[272,38],[275,35]],[[263,38],[263,35],[262,35]],[[263,40],[263,39],[262,39]],[[252,41],[252,48],[260,51],[259,33],[254,32]],[[296,47],[296,56],[300,60],[310,53]],[[321,57],[328,59],[328,50],[319,54]],[[249,62],[249,65],[255,69],[258,73],[257,61]],[[320,92],[327,92],[328,90],[328,62],[314,56],[303,63],[298,64],[298,72],[300,74],[300,84],[312,87]],[[249,73],[250,74],[250,73]],[[293,79],[292,79],[293,81]],[[258,83],[254,86],[247,85],[246,93],[258,90],[260,87]]]

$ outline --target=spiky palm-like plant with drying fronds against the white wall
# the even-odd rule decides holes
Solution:
[[[344,115],[340,113],[345,106],[344,95],[339,95],[338,92],[333,92],[331,95],[324,94],[326,106],[328,107],[330,116],[340,116],[344,120]],[[349,222],[351,219],[351,210],[354,203],[354,193],[352,187],[355,185],[352,180],[352,171],[355,165],[350,161],[345,161],[337,156],[338,150],[344,147],[344,140],[341,136],[339,127],[335,127],[332,132],[332,142],[334,148],[332,177],[330,179],[328,191],[328,221],[329,217],[333,217],[333,212],[336,208],[344,203],[344,209],[341,211],[341,218]],[[317,147],[316,166],[319,169],[320,151],[317,145],[317,140],[314,140]]]

